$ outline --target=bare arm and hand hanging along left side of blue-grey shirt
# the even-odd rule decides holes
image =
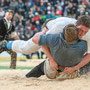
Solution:
[[[44,53],[47,55],[47,57],[49,58],[50,62],[51,62],[51,67],[52,68],[55,68],[55,69],[58,69],[58,64],[55,62],[55,60],[53,59],[52,55],[51,55],[51,52],[50,52],[50,49],[48,46],[44,46],[42,45],[41,46]]]

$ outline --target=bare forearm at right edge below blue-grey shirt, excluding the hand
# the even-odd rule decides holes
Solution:
[[[86,56],[84,56],[84,58],[82,59],[82,61],[73,67],[74,70],[77,70],[83,66],[85,66],[88,62],[90,62],[90,54],[87,54]]]

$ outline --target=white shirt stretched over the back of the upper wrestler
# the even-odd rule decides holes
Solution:
[[[75,24],[76,19],[68,18],[68,17],[59,17],[57,19],[49,21],[46,26],[49,29],[47,34],[59,34],[63,32],[63,28],[68,24]]]

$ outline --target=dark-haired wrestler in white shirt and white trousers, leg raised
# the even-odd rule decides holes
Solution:
[[[48,32],[46,34],[59,34],[59,32],[62,32],[63,28],[68,24],[75,24],[76,27],[79,29],[79,38],[84,39],[87,41],[88,44],[88,52],[87,55],[82,59],[81,63],[76,65],[73,68],[66,68],[65,72],[71,73],[74,70],[79,69],[80,67],[84,66],[90,61],[90,41],[89,41],[89,35],[90,35],[90,16],[83,15],[78,18],[78,20],[67,18],[67,17],[60,17],[55,20],[51,20],[46,24],[46,27],[48,28]],[[88,32],[88,33],[87,33]],[[7,45],[8,46],[8,45]],[[34,44],[32,42],[32,38],[28,41],[14,41],[11,45],[13,51],[30,54],[40,48],[40,46]]]

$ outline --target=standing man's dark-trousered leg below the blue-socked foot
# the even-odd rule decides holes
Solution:
[[[16,69],[17,54],[15,52],[13,52],[12,50],[8,50],[7,52],[11,55],[10,68]]]

